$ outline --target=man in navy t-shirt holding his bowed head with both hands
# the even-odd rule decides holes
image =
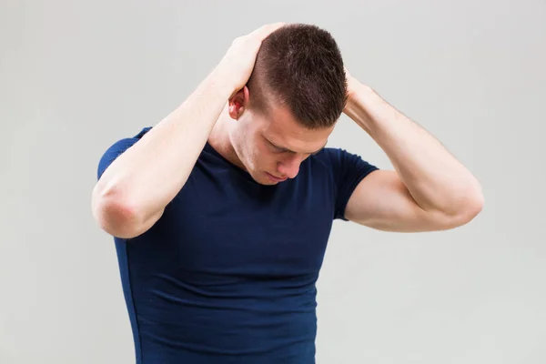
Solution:
[[[345,112],[395,170],[325,147]],[[314,363],[332,221],[459,227],[480,184],[346,72],[328,32],[236,39],[164,120],[108,148],[93,213],[115,237],[137,363]]]

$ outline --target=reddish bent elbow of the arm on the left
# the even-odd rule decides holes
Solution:
[[[136,238],[144,231],[136,205],[114,189],[97,185],[92,196],[92,214],[98,226],[115,238]]]

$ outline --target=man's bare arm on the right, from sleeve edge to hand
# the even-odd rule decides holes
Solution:
[[[480,182],[422,127],[350,76],[344,113],[371,136],[394,171],[360,181],[345,217],[387,231],[445,230],[464,225],[483,206]]]

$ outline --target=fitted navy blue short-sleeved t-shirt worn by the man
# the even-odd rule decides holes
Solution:
[[[109,147],[97,177],[149,129]],[[157,223],[114,238],[136,363],[314,363],[332,222],[375,169],[325,148],[264,186],[207,144]]]

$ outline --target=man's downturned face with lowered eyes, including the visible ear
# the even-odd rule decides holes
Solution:
[[[298,125],[286,107],[271,107],[268,115],[229,106],[237,122],[230,133],[240,164],[262,185],[276,185],[298,175],[301,162],[326,146],[334,126],[310,130]]]

